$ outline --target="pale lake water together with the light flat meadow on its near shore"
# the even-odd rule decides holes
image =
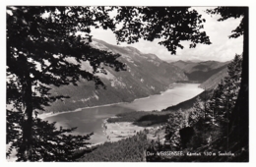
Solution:
[[[50,120],[50,122],[57,122],[60,125],[63,123],[61,125],[62,127],[65,127],[65,125],[68,125],[67,127],[80,127],[78,129],[78,132],[75,133],[76,135],[77,133],[87,134],[95,132],[95,136],[90,139],[90,142],[93,146],[102,144],[105,141],[117,141],[119,139],[132,137],[137,132],[152,127],[140,127],[138,125],[134,125],[132,121],[108,123],[107,120],[109,118],[116,117],[117,114],[123,112],[144,111],[146,113],[150,113],[154,110],[162,111],[162,109],[160,108],[166,108],[165,105],[177,105],[180,102],[184,102],[186,100],[189,100],[190,98],[193,98],[201,91],[202,88],[198,88],[198,83],[173,83],[173,86],[163,92],[160,92],[160,94],[154,94],[148,97],[134,99],[133,102],[118,102],[99,106],[83,107],[73,111],[65,111],[55,114],[46,113],[40,115],[39,117],[48,121]],[[189,94],[189,96],[191,97],[189,97],[188,95],[180,95],[179,92],[183,94]],[[169,100],[169,95],[171,95],[171,98],[173,98],[174,95],[176,101]],[[160,105],[158,106],[158,104]],[[81,114],[72,114],[79,111],[81,111]],[[57,115],[60,114],[67,114],[67,116],[58,117]],[[72,122],[73,119],[75,120],[74,122]],[[85,126],[86,128],[83,128],[83,126]]]

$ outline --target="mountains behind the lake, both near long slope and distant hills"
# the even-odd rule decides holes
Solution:
[[[81,79],[78,85],[53,86],[52,94],[68,95],[70,98],[46,106],[45,112],[60,113],[78,108],[132,102],[137,98],[160,94],[161,91],[171,88],[171,83],[202,83],[202,88],[213,88],[224,78],[224,75],[218,74],[225,74],[228,63],[167,63],[157,55],[142,53],[134,47],[115,46],[98,39],[94,39],[91,45],[97,49],[119,53],[121,56],[118,60],[126,65],[126,71],[116,72],[112,68],[104,67],[106,74],[98,73],[96,76],[105,84],[105,88],[96,88],[94,82],[85,79]],[[88,62],[82,62],[82,68],[92,70]]]

